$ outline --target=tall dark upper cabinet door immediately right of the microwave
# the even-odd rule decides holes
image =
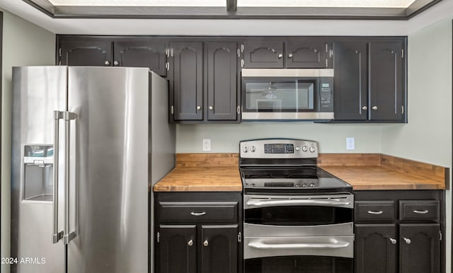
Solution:
[[[367,42],[338,41],[333,44],[335,120],[367,120]]]

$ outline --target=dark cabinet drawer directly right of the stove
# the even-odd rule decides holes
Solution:
[[[355,221],[394,221],[394,201],[356,201]]]

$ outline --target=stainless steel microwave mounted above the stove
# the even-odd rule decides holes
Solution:
[[[332,120],[333,69],[242,69],[242,120]]]

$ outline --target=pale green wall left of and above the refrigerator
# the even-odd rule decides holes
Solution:
[[[9,257],[11,177],[11,67],[55,64],[55,34],[3,11],[1,76],[1,257]],[[2,273],[9,272],[1,265]]]

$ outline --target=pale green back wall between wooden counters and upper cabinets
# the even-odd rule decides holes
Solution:
[[[404,124],[398,124],[403,127]],[[177,153],[206,153],[202,139],[211,139],[211,153],[237,153],[239,141],[285,137],[318,141],[321,153],[380,153],[381,124],[321,124],[312,122],[243,122],[241,124],[178,124]],[[346,137],[355,149],[346,150]]]

